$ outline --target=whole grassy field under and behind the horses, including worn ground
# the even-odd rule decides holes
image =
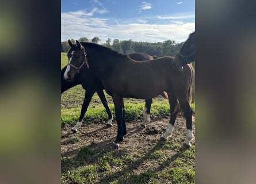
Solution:
[[[66,53],[61,53],[61,56],[63,68],[68,61]],[[85,90],[81,85],[62,94],[63,135],[77,122],[84,95]],[[114,116],[112,98],[108,94],[106,98]],[[143,99],[125,98],[124,103],[128,122],[142,120]],[[100,98],[94,94],[85,114],[81,132],[62,138],[62,183],[194,183],[195,145],[193,144],[188,150],[182,148],[185,129],[183,127],[174,129],[173,139],[165,142],[158,141],[163,129],[166,129],[166,122],[169,121],[169,109],[168,101],[162,97],[154,98],[151,120],[162,121],[162,118],[165,118],[163,124],[134,133],[131,140],[126,143],[130,145],[123,144],[122,148],[114,150],[108,147],[102,148],[101,142],[108,140],[94,137],[93,141],[89,141],[93,134],[91,132],[109,133],[109,137],[113,137],[116,135],[114,134],[116,127],[112,127],[111,131],[104,129],[100,132],[108,116]],[[194,110],[194,104],[192,109]],[[135,145],[132,139],[136,139],[136,136],[139,139],[143,136],[147,141],[141,140]]]

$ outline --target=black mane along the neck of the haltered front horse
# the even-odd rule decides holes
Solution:
[[[119,57],[123,57],[123,58],[126,58],[126,59],[130,59],[130,57],[128,55],[124,55],[122,53],[119,53],[117,51],[114,51],[113,49],[111,48],[108,48],[108,47],[105,47],[103,45],[100,45],[100,44],[95,44],[95,43],[91,43],[91,42],[80,42],[83,47],[89,47],[91,49],[95,49],[99,52],[101,52],[102,55],[104,55],[104,53],[106,53],[107,55],[112,55],[112,56],[119,56]]]

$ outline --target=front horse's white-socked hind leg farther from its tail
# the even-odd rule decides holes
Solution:
[[[165,133],[162,135],[161,140],[166,141],[173,134],[174,123],[178,114],[178,101],[176,97],[169,95],[170,104],[170,121]]]

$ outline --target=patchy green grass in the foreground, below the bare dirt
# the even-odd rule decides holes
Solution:
[[[194,145],[189,150],[180,149],[172,154],[166,154],[163,145],[155,145],[149,151],[141,150],[140,157],[131,154],[129,149],[98,152],[94,148],[83,147],[87,155],[83,155],[83,159],[62,158],[62,183],[194,183]],[[156,168],[136,171],[143,163],[156,162],[159,162]],[[68,163],[72,167],[66,167]]]

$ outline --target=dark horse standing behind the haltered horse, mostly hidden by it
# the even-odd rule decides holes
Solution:
[[[131,53],[129,56],[133,60],[150,60],[154,59],[152,56],[148,55],[147,53]],[[106,97],[104,94],[104,86],[102,85],[101,80],[89,69],[81,68],[82,72],[79,72],[74,78],[73,81],[66,81],[63,77],[64,72],[66,71],[67,66],[65,66],[61,71],[61,93],[70,89],[71,87],[82,85],[83,89],[86,90],[85,98],[83,101],[83,105],[81,108],[81,113],[78,119],[77,124],[71,129],[73,132],[77,132],[78,128],[81,127],[83,122],[83,117],[87,111],[87,108],[90,104],[91,98],[93,97],[94,93],[97,93],[101,99],[102,104],[104,105],[106,112],[108,113],[108,122],[106,123],[107,127],[112,126],[113,116],[110,112],[108,102],[106,101]],[[162,96],[168,99],[167,94],[163,93]],[[145,108],[143,111],[143,122],[142,127],[146,127],[146,124],[150,122],[150,109],[151,109],[152,99],[146,99]]]

